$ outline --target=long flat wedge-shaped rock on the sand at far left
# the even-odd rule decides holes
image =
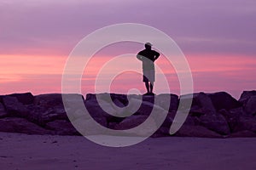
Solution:
[[[51,131],[20,117],[6,117],[0,119],[0,131],[8,133],[52,134]]]

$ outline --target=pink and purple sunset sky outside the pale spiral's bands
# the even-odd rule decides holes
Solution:
[[[62,71],[76,44],[96,29],[127,22],[154,26],[177,42],[189,62],[195,92],[226,91],[238,99],[243,90],[255,89],[254,0],[0,0],[0,94],[61,93]],[[131,42],[102,49],[84,71],[83,94],[94,92],[104,62],[142,49],[143,44]],[[172,65],[164,56],[156,64],[179,94]],[[141,75],[124,72],[111,90],[127,93],[130,88],[145,92]]]

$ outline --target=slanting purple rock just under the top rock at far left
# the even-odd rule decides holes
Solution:
[[[26,117],[29,113],[26,106],[20,103],[20,101],[11,96],[3,97],[3,105],[9,116]]]

